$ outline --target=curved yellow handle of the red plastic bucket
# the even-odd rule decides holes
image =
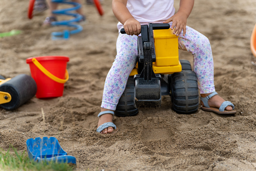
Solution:
[[[41,65],[38,60],[36,60],[36,58],[32,58],[32,62],[35,64],[35,66],[40,70],[42,71],[47,77],[49,77],[50,79],[52,79],[53,81],[56,81],[57,83],[62,83],[64,84],[65,82],[68,81],[69,79],[69,75],[68,75],[68,70],[66,69],[66,72],[65,72],[65,79],[60,79],[56,76],[54,76],[52,73],[50,73],[49,71],[47,71],[43,65]]]

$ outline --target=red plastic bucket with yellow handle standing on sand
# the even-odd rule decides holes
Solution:
[[[64,83],[68,80],[67,56],[37,56],[27,58],[31,76],[37,85],[36,97],[54,98],[63,95]]]

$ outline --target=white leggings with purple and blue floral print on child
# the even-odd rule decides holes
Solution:
[[[186,26],[178,38],[179,49],[193,55],[193,70],[197,75],[200,94],[215,91],[213,78],[213,57],[211,45],[207,37]],[[101,107],[116,110],[116,106],[124,92],[127,79],[136,65],[138,50],[137,36],[119,33],[116,42],[117,55],[106,77]]]

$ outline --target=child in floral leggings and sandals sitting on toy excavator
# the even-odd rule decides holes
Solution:
[[[179,49],[191,52],[193,70],[197,74],[201,94],[201,109],[219,114],[234,114],[234,105],[215,92],[213,57],[208,38],[186,26],[194,0],[180,0],[176,14],[173,0],[113,0],[112,9],[118,19],[119,35],[116,42],[117,55],[106,77],[97,132],[113,132],[114,111],[121,97],[129,74],[137,62],[137,36],[141,25],[170,23],[173,34],[179,36]],[[127,34],[121,34],[120,29]]]

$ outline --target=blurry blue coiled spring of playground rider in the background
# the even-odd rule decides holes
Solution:
[[[63,21],[53,21],[51,23],[52,26],[68,26],[68,27],[74,27],[74,30],[63,30],[62,32],[52,32],[52,40],[59,40],[59,39],[69,39],[71,34],[79,33],[83,30],[83,27],[76,24],[82,19],[82,15],[78,13],[73,13],[70,11],[78,10],[81,8],[81,4],[77,2],[70,2],[69,0],[52,0],[54,3],[63,3],[63,4],[70,4],[74,7],[66,8],[66,9],[57,9],[53,10],[52,13],[56,15],[68,15],[75,17],[71,20],[63,20]]]

